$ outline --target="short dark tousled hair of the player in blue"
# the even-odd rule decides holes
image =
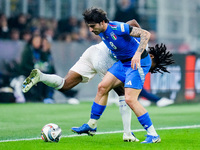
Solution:
[[[86,9],[82,15],[87,24],[100,23],[102,21],[105,21],[106,23],[109,22],[107,13],[104,10],[97,7],[91,7]]]

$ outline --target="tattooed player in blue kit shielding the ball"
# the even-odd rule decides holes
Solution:
[[[106,108],[108,92],[124,84],[125,101],[147,131],[147,138],[142,143],[160,142],[161,139],[155,131],[148,112],[138,102],[145,75],[151,71],[151,65],[154,66],[151,64],[150,55],[145,50],[150,33],[126,23],[109,21],[106,12],[99,8],[87,9],[83,16],[89,30],[101,37],[119,61],[108,70],[98,85],[89,122],[79,128],[72,128],[72,131],[79,134],[96,132],[97,120]]]

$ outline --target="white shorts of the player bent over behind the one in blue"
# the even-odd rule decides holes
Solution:
[[[89,82],[96,74],[104,77],[107,70],[116,62],[103,42],[90,46],[70,69],[80,74],[82,82]]]

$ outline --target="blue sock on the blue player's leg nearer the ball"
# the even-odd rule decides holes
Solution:
[[[99,119],[102,115],[102,113],[104,112],[106,106],[103,105],[99,105],[95,102],[93,102],[92,105],[92,110],[91,110],[91,119]]]

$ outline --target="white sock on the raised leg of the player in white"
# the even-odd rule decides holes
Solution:
[[[53,87],[56,90],[59,90],[63,87],[65,80],[55,74],[40,74],[40,81],[46,84],[47,86]]]

